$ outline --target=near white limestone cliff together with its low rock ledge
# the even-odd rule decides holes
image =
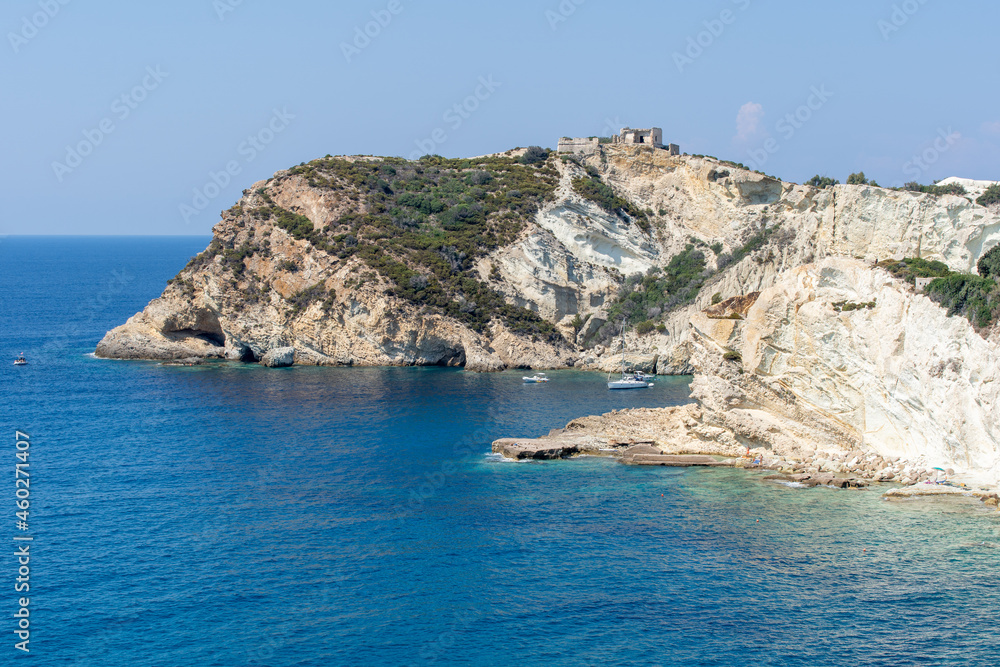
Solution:
[[[886,271],[826,258],[695,313],[691,330],[696,403],[583,417],[494,451],[640,463],[629,456],[639,447],[648,465],[760,457],[781,481],[806,486],[946,475],[981,496],[1000,486],[1000,346]],[[941,489],[911,489],[931,490]]]

